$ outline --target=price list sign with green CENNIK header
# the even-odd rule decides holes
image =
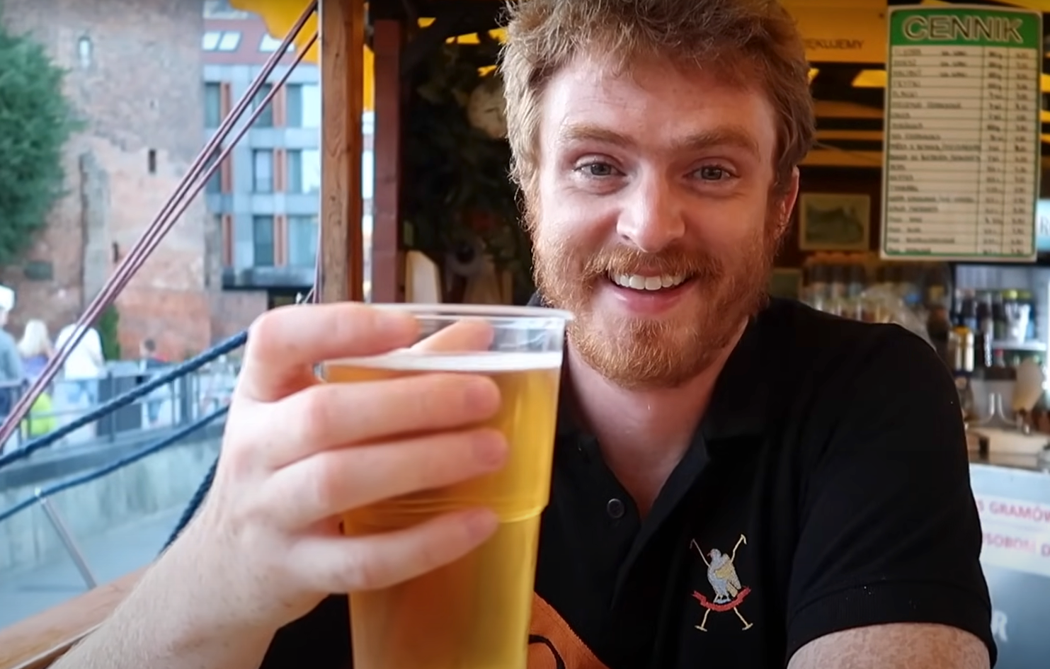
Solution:
[[[1043,17],[889,7],[882,257],[1035,258]]]

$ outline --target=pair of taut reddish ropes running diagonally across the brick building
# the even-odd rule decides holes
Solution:
[[[315,33],[304,48],[296,49],[296,56],[293,59],[292,65],[284,74],[279,82],[272,87],[264,101],[256,106],[254,112],[250,117],[249,123],[245,124],[245,126],[240,128],[234,139],[234,142],[227,145],[222,150],[217,160],[215,160],[209,168],[202,169],[205,165],[207,165],[208,161],[211,160],[212,155],[215,153],[215,149],[222,146],[227,135],[230,134],[230,131],[240,121],[240,118],[254,101],[255,96],[261,88],[262,84],[269,79],[270,75],[273,74],[281,58],[284,58],[288,53],[289,45],[291,45],[295,38],[298,37],[307,21],[316,13],[316,11],[317,0],[313,0],[303,9],[299,19],[292,27],[292,30],[285,36],[285,39],[281,41],[277,50],[270,55],[258,77],[256,77],[249,86],[236,107],[227,116],[220,127],[215,131],[215,134],[212,135],[211,140],[205,145],[201,152],[197,153],[196,159],[193,161],[190,169],[175,188],[175,192],[172,194],[171,198],[164,207],[162,207],[161,211],[158,212],[156,216],[149,224],[149,226],[147,226],[142,236],[135,242],[134,246],[132,246],[131,250],[117,267],[117,270],[103,286],[102,290],[94,297],[94,299],[91,300],[87,309],[77,320],[72,335],[62,346],[62,348],[56,352],[51,359],[47,361],[47,364],[44,365],[40,375],[29,385],[28,390],[22,395],[18,402],[16,402],[15,406],[12,407],[10,414],[8,414],[3,424],[0,425],[0,443],[5,443],[15,431],[18,430],[19,423],[23,418],[25,418],[26,414],[29,413],[33,403],[38,397],[40,397],[41,393],[44,392],[44,389],[46,389],[47,385],[55,379],[59,369],[65,363],[69,354],[83,338],[84,334],[87,332],[88,326],[93,323],[98,319],[99,315],[102,314],[102,312],[110,304],[112,304],[112,301],[117,298],[117,295],[124,290],[134,273],[142,267],[156,246],[164,239],[177,222],[178,217],[189,207],[193,197],[200,193],[207,181],[212,176],[212,174],[214,174],[215,170],[218,169],[223,160],[225,160],[230,150],[232,150],[233,145],[236,144],[244,133],[248,131],[248,128],[251,127],[255,119],[258,118],[267,105],[270,104],[270,101],[276,91],[284,86],[285,82],[291,76],[292,70],[295,69],[295,67],[302,61],[306,54],[310,50],[314,43],[316,43],[317,34]]]

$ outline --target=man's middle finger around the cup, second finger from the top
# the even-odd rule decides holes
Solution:
[[[469,374],[317,383],[265,407],[255,446],[276,469],[329,448],[477,424],[499,406],[496,383]]]

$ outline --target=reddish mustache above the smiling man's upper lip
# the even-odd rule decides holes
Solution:
[[[587,256],[583,264],[583,278],[587,281],[608,274],[668,274],[712,280],[724,273],[724,266],[718,258],[702,251],[679,247],[659,253],[615,247]]]

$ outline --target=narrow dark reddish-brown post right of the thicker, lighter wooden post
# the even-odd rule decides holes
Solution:
[[[404,26],[373,23],[375,53],[375,190],[372,195],[372,301],[404,301],[401,253],[401,49]]]

